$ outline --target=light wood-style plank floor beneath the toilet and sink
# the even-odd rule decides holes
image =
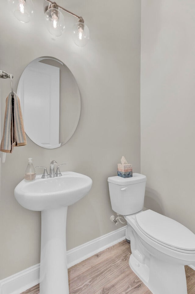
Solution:
[[[151,294],[130,269],[130,253],[124,240],[69,268],[70,294]],[[188,294],[195,294],[195,271],[185,269]],[[38,294],[39,285],[21,294],[27,293]]]

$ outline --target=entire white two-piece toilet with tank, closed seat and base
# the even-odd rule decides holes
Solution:
[[[108,178],[112,209],[127,221],[129,265],[154,294],[187,294],[184,265],[195,263],[195,234],[166,216],[143,211],[146,176]]]

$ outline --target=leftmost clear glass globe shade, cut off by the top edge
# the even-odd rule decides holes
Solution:
[[[33,15],[32,0],[11,0],[12,10],[17,20],[28,23]]]

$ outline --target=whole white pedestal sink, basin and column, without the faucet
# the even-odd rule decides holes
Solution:
[[[66,263],[66,215],[69,205],[83,198],[92,180],[76,172],[33,182],[22,180],[15,188],[23,207],[41,211],[40,294],[69,294]]]

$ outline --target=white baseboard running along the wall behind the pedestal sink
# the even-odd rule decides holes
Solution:
[[[67,251],[68,268],[90,256],[125,240],[125,227]],[[39,283],[40,264],[22,270],[0,281],[0,294],[20,294]]]

